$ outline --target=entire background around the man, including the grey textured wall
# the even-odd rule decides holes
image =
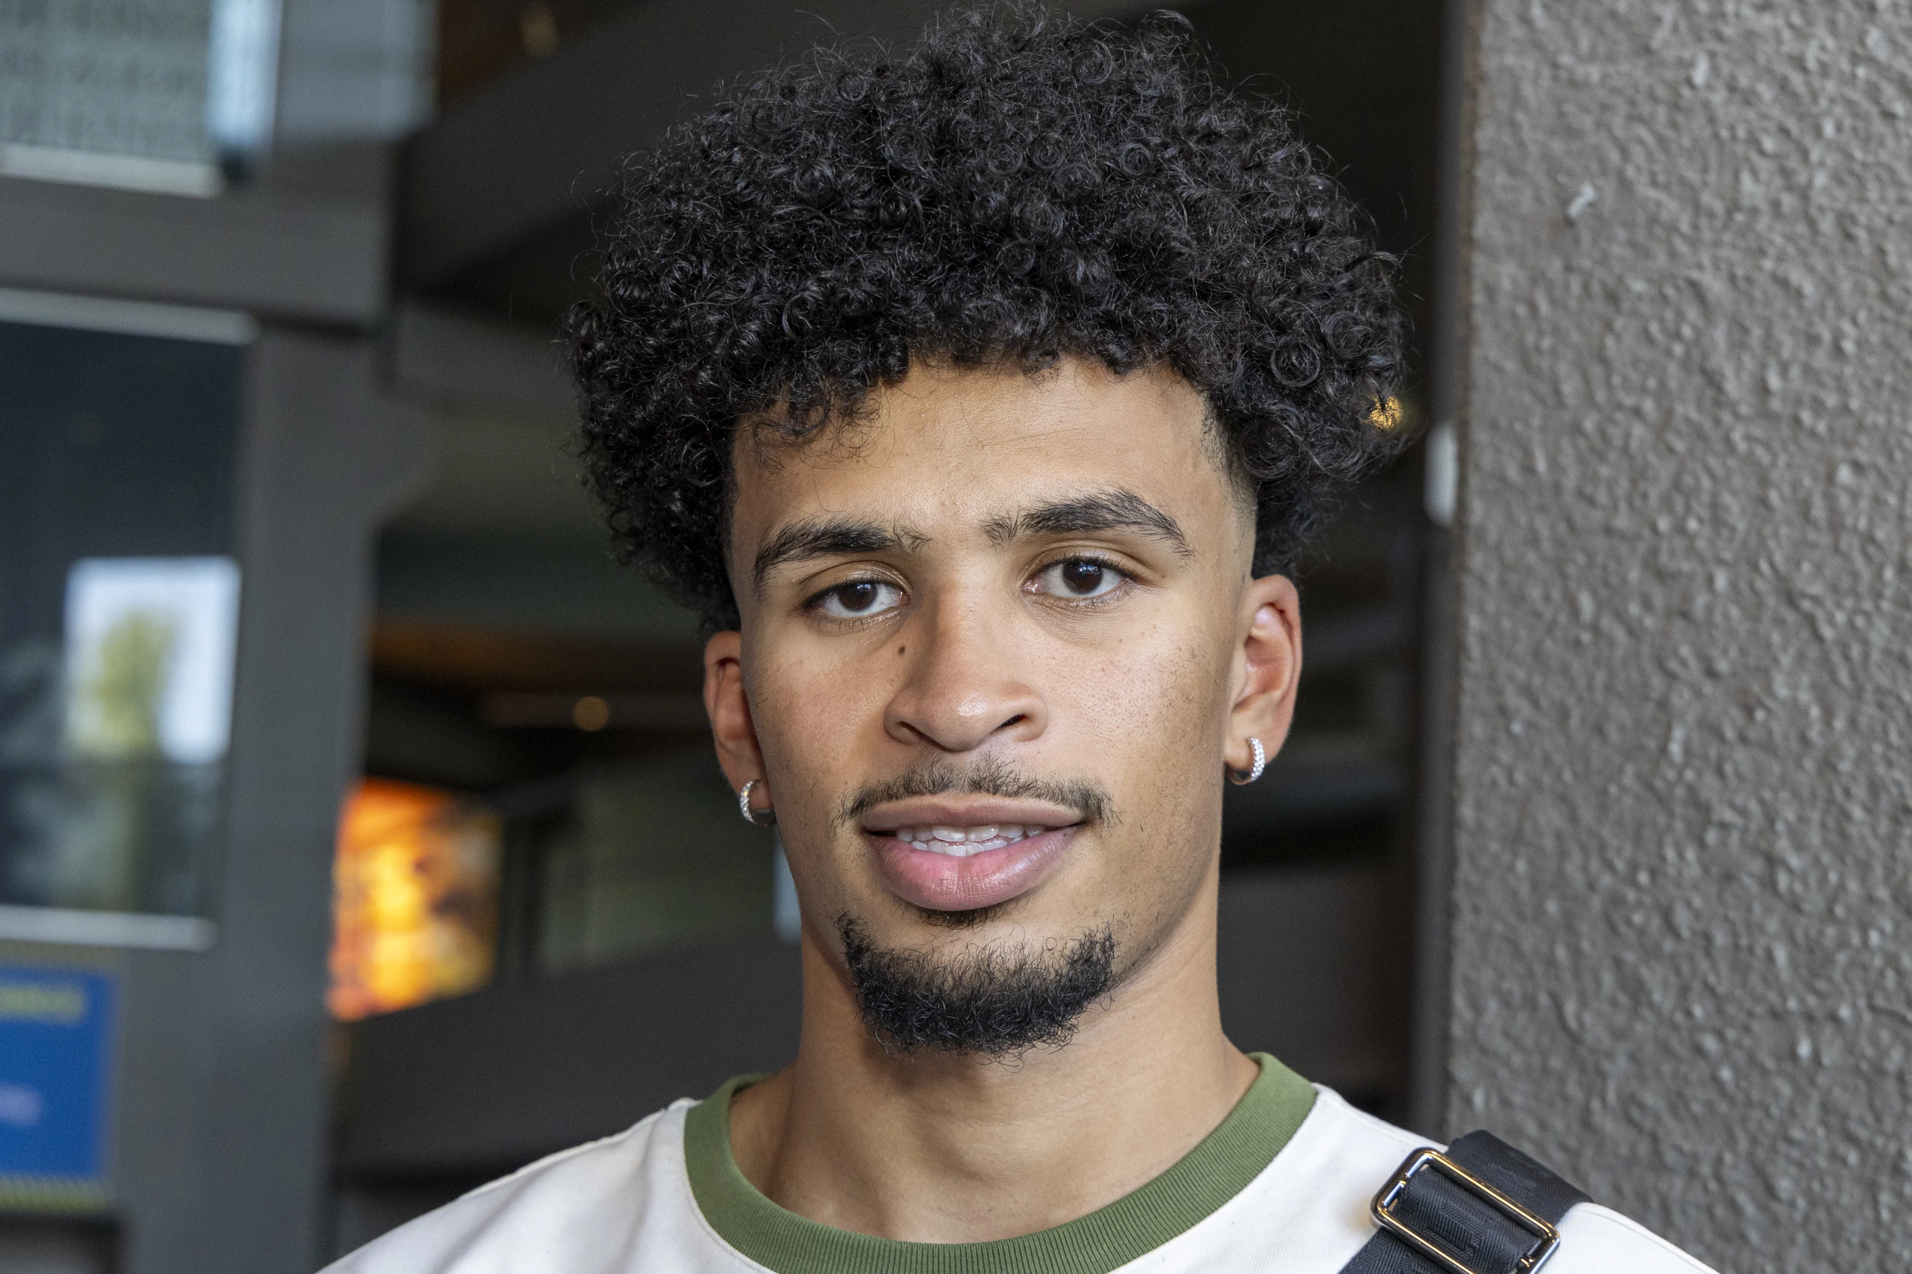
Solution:
[[[0,1274],[308,1274],[792,1054],[556,321],[621,157],[929,10],[0,0]],[[1228,793],[1228,1031],[1721,1270],[1902,1268],[1912,6],[1182,10],[1415,357]]]

